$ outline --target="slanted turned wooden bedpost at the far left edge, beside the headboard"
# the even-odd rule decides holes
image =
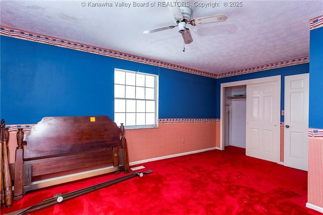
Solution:
[[[7,143],[9,139],[9,130],[6,129],[5,120],[1,120],[1,130],[3,136],[3,176],[4,176],[4,198],[5,205],[10,206],[13,200],[12,181],[8,159]]]

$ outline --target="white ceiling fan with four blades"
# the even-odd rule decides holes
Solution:
[[[208,17],[200,17],[200,18],[191,19],[192,18],[192,9],[191,8],[179,7],[178,4],[174,4],[174,3],[177,3],[176,0],[175,1],[174,0],[165,1],[165,2],[168,5],[169,10],[171,11],[171,13],[174,17],[174,22],[176,24],[171,25],[171,26],[165,26],[165,27],[146,30],[143,32],[144,34],[150,34],[153,32],[163,31],[163,30],[178,27],[178,30],[179,30],[178,32],[182,34],[182,37],[184,39],[184,43],[189,44],[189,43],[193,42],[193,38],[190,33],[190,30],[186,27],[187,24],[195,26],[195,25],[202,25],[202,24],[208,24],[208,23],[225,22],[229,18],[229,16],[227,14],[218,14],[218,15],[213,15],[213,16],[208,16]]]

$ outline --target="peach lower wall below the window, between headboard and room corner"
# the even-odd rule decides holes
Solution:
[[[220,146],[218,133],[220,122],[216,121],[159,123],[158,128],[126,129],[129,162],[216,149]]]

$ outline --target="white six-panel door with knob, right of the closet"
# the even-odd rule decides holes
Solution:
[[[285,76],[284,165],[307,171],[308,74]]]

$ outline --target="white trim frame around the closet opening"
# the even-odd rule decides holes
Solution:
[[[279,102],[281,104],[281,75],[278,76],[270,76],[270,77],[264,77],[264,78],[257,78],[257,79],[248,79],[248,80],[242,80],[242,81],[236,81],[236,82],[227,82],[227,83],[221,83],[221,92],[220,92],[220,147],[217,148],[219,150],[224,150],[225,144],[224,144],[224,118],[225,118],[225,88],[226,87],[235,87],[240,85],[249,85],[249,84],[258,84],[258,83],[265,83],[265,82],[278,82],[279,86]],[[248,96],[248,95],[247,95]],[[280,105],[281,107],[281,105]],[[280,113],[278,113],[280,116]],[[280,136],[280,126],[278,127],[278,136]],[[280,141],[278,142],[279,146],[278,149],[278,158],[277,163],[280,163]]]

